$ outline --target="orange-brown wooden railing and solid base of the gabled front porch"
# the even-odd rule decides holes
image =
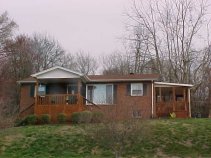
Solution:
[[[83,97],[80,94],[53,94],[37,96],[34,113],[38,116],[49,114],[52,121],[55,121],[59,113],[64,113],[69,118],[73,112],[85,109]]]

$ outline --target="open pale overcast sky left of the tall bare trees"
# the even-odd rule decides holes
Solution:
[[[99,56],[122,49],[130,0],[0,0],[19,33],[48,33],[69,52]]]

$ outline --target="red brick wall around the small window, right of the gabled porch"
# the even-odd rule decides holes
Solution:
[[[93,111],[102,111],[110,119],[128,119],[133,117],[133,111],[140,111],[142,118],[151,118],[152,113],[152,83],[147,84],[147,94],[145,96],[127,95],[128,83],[117,83],[117,104],[99,105],[101,108],[91,106]]]

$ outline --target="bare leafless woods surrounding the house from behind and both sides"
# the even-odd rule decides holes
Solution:
[[[158,73],[160,81],[193,84],[192,116],[210,111],[209,4],[192,0],[134,0],[122,41],[125,50],[96,57],[68,52],[48,34],[15,35],[18,24],[0,13],[0,116],[19,111],[16,81],[53,66],[83,74]]]

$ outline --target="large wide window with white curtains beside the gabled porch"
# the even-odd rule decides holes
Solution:
[[[95,104],[113,104],[113,85],[112,84],[93,84],[87,85],[86,97],[88,101]],[[87,103],[89,103],[87,101]]]

